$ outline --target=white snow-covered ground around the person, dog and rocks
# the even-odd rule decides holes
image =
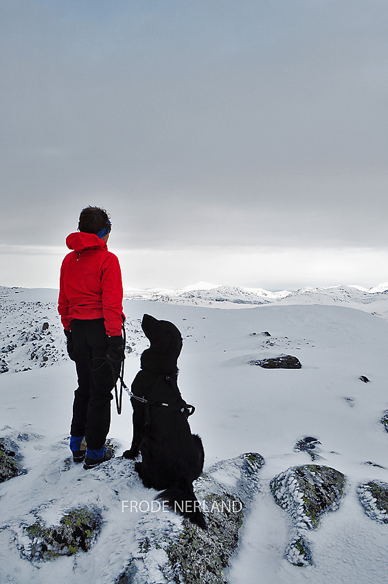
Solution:
[[[220,300],[220,289],[214,290],[190,289],[176,293],[178,300],[163,292],[169,302],[127,293],[127,346],[133,350],[125,377],[129,385],[148,346],[142,315],[174,322],[184,339],[179,388],[196,406],[190,423],[203,438],[205,466],[247,451],[264,456],[261,492],[242,530],[229,583],[386,583],[388,525],[369,519],[356,496],[361,482],[388,482],[388,434],[380,423],[388,409],[385,286],[267,293],[261,305],[251,304],[254,291],[224,290],[227,300]],[[163,524],[156,514],[122,513],[122,500],[155,496],[141,486],[130,461],[115,459],[95,471],[65,463],[76,375],[65,356],[56,297],[54,290],[0,288],[0,350],[8,369],[0,375],[0,435],[19,443],[27,469],[0,485],[1,584],[113,583],[139,534]],[[240,302],[244,299],[248,304]],[[249,365],[279,355],[298,357],[302,368]],[[127,396],[121,416],[112,405],[110,436],[120,445],[118,453],[129,447]],[[309,534],[315,565],[299,568],[284,559],[288,518],[269,482],[295,464],[311,462],[308,453],[294,450],[305,436],[321,442],[315,463],[346,475],[347,493],[339,510]],[[104,510],[105,523],[90,552],[38,565],[21,558],[23,525],[36,517],[55,524],[60,513],[82,502]]]

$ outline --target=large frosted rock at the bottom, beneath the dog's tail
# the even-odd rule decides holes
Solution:
[[[194,482],[207,530],[164,513],[159,530],[144,531],[139,552],[115,584],[224,584],[225,570],[238,546],[239,530],[259,488],[264,458],[245,453],[218,462]],[[170,522],[170,526],[166,524]],[[179,521],[179,524],[178,524]]]

